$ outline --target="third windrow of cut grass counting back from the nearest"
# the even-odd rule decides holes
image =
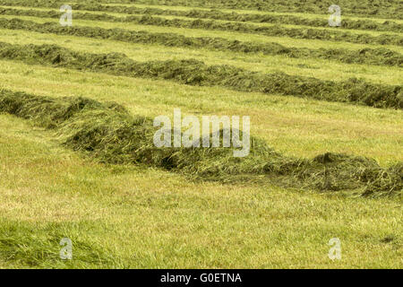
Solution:
[[[186,37],[176,33],[153,33],[145,30],[104,29],[77,26],[61,27],[56,22],[38,23],[21,19],[0,18],[0,28],[8,30],[30,30],[40,33],[71,35],[78,37],[119,40],[129,43],[158,44],[178,48],[209,48],[245,54],[262,53],[270,56],[293,58],[321,58],[346,64],[396,65],[403,66],[403,56],[387,48],[287,48],[278,43],[254,43],[219,37]]]

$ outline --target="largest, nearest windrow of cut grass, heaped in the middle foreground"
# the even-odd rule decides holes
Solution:
[[[251,153],[244,158],[234,158],[233,148],[157,148],[151,118],[130,115],[116,103],[81,97],[48,98],[2,90],[0,111],[55,130],[65,146],[101,162],[143,164],[227,183],[266,180],[322,192],[402,195],[403,162],[384,169],[372,159],[331,152],[310,160],[290,158],[254,137]]]

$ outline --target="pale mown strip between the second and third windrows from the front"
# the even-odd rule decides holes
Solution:
[[[74,51],[108,53],[113,50],[135,61],[174,60],[198,58],[207,65],[234,65],[253,72],[304,74],[322,80],[345,81],[352,77],[371,83],[398,85],[403,77],[402,69],[382,65],[345,65],[337,61],[273,57],[260,53],[211,51],[206,48],[171,48],[161,45],[124,43],[115,40],[91,39],[76,36],[43,34],[28,30],[0,30],[0,41],[27,45],[30,43],[62,45]],[[63,44],[61,44],[63,43]],[[141,51],[141,53],[139,53]]]

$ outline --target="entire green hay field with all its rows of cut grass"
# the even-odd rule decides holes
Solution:
[[[0,0],[0,268],[403,268],[403,22],[399,1],[383,11],[366,2],[355,10],[340,1],[342,21],[362,29],[320,26],[315,21],[327,22],[329,5],[307,1],[304,10],[294,0],[270,7],[261,0],[86,0],[70,3],[72,27],[56,29],[65,3]],[[108,18],[141,16],[141,9],[162,20]],[[273,23],[226,20],[231,13],[297,17],[275,26],[306,37],[265,35],[254,29]],[[231,29],[161,24],[176,19]],[[13,21],[21,27],[7,23]],[[236,30],[241,23],[254,28]],[[340,33],[345,40],[334,39]],[[244,48],[234,48],[239,43]],[[262,51],[247,50],[253,45]],[[265,52],[275,45],[299,50]],[[169,70],[181,60],[189,61]],[[200,81],[187,80],[186,71],[198,72],[188,64],[193,60],[206,66]],[[126,69],[131,63],[155,66],[136,74]],[[211,83],[216,72],[209,71],[218,66],[242,71]],[[347,86],[351,78],[362,82]],[[323,96],[289,91],[291,81],[301,91],[323,87]],[[355,98],[363,93],[370,96]],[[96,107],[114,101],[127,113],[68,114],[74,107],[66,97],[95,100]],[[47,102],[68,112],[58,115]],[[184,116],[250,116],[251,136],[279,152],[279,160],[257,153],[250,161],[219,152],[204,157],[201,148],[188,158],[183,150],[169,153],[184,158],[167,169],[158,160],[162,151],[150,149],[152,160],[133,152],[147,136],[118,134],[131,127],[126,118],[172,118],[176,108]],[[106,128],[108,137],[83,149],[78,143],[103,135],[84,128],[91,125]],[[74,126],[91,138],[85,142]],[[66,142],[71,134],[75,145]],[[360,160],[347,162],[351,175],[342,162],[314,165],[326,152]],[[266,161],[279,170],[258,166]],[[334,187],[322,184],[328,172]],[[59,257],[63,238],[73,242],[72,260]],[[332,238],[341,241],[339,260],[328,257]]]

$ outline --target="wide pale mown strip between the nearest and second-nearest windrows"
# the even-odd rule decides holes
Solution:
[[[134,114],[249,115],[252,135],[287,155],[313,157],[347,152],[375,158],[382,165],[403,161],[399,152],[401,110],[371,109],[222,88],[184,86],[107,74],[2,61],[1,87],[47,96],[83,96],[116,101]]]

